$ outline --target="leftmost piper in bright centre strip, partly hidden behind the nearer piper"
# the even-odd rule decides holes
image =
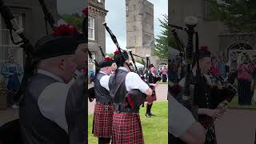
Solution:
[[[98,74],[94,80],[96,104],[94,107],[93,134],[99,144],[110,143],[114,106],[108,86],[110,74],[114,69],[114,59],[106,57],[98,64]]]

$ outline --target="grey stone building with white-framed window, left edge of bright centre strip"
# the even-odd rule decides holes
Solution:
[[[102,54],[98,46],[101,46],[103,52],[106,52],[106,30],[102,23],[105,22],[108,11],[105,10],[105,0],[89,0],[88,2],[88,46],[93,58],[100,61]],[[88,59],[88,66],[88,70],[95,70],[93,60],[90,58]]]

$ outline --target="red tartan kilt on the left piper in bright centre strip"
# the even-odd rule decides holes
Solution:
[[[98,138],[111,138],[114,106],[97,102],[94,107],[93,134]]]

